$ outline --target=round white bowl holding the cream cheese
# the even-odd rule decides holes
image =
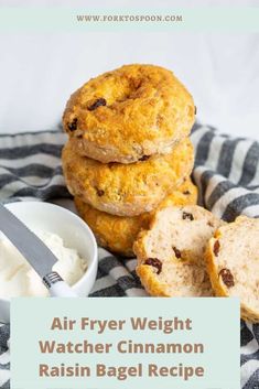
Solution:
[[[61,206],[42,202],[19,202],[7,205],[32,230],[45,230],[58,235],[65,246],[75,248],[87,259],[87,270],[73,285],[79,298],[89,294],[97,274],[97,244],[90,228],[78,216]],[[0,322],[10,321],[10,301],[0,295]]]

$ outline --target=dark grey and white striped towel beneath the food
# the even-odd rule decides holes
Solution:
[[[239,214],[259,217],[259,143],[218,134],[195,125],[193,179],[199,203],[225,220]],[[0,136],[0,201],[69,198],[61,168],[65,136],[60,131]],[[121,260],[99,249],[91,296],[141,296],[136,260]],[[259,389],[259,324],[241,322],[241,388]],[[10,388],[9,326],[0,327],[0,388]]]

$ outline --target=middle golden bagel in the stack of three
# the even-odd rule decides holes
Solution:
[[[194,151],[190,139],[166,155],[132,164],[104,164],[77,153],[74,139],[63,149],[67,187],[93,207],[118,216],[136,216],[158,207],[191,174]]]

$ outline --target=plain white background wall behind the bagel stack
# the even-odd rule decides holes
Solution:
[[[149,9],[259,6],[259,1],[25,1],[2,6]],[[0,35],[0,132],[56,128],[71,93],[129,63],[171,68],[193,94],[197,118],[234,136],[259,138],[259,34],[55,33]]]

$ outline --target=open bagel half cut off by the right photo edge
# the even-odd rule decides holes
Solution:
[[[218,228],[206,250],[207,269],[218,296],[240,299],[241,317],[259,322],[259,219],[239,216]]]

